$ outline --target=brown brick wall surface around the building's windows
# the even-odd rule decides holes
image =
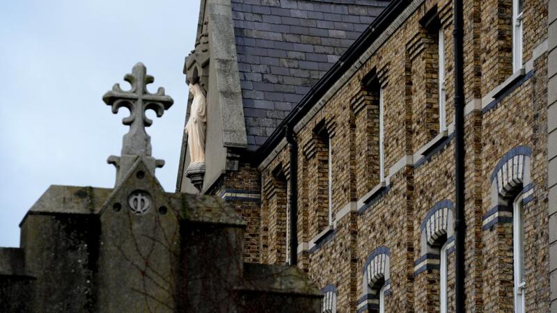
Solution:
[[[513,74],[512,1],[473,0],[465,1],[464,6],[467,312],[513,310],[512,223],[503,218],[508,214],[504,206],[496,214],[493,211],[494,201],[508,202],[509,198],[494,195],[490,177],[505,154],[519,146],[531,149],[533,186],[532,194],[524,200],[526,311],[549,311],[548,78],[543,48],[548,2],[524,3],[525,75],[515,81],[508,81]],[[446,38],[447,137],[437,136],[437,41],[420,24],[434,6]],[[422,1],[296,134],[299,266],[318,287],[334,284],[338,312],[355,312],[361,307],[361,297],[365,296],[363,267],[380,246],[390,250],[391,287],[386,311],[439,310],[438,260],[427,259],[427,255],[422,259],[423,247],[433,252],[439,247],[424,246],[421,224],[436,204],[454,202],[451,15],[450,1]],[[384,88],[384,188],[379,185],[378,173],[377,95],[362,87],[372,72]],[[315,127],[322,123],[334,125],[334,229],[316,237],[322,225],[320,212],[329,196],[318,166],[320,146],[315,143]],[[288,147],[264,166],[264,181],[272,177],[279,163],[288,163]],[[377,192],[370,194],[372,190]],[[530,191],[525,188],[524,192]],[[266,201],[272,200],[264,199],[263,203]],[[263,207],[270,216],[272,206]],[[450,311],[454,310],[454,257],[450,250]]]

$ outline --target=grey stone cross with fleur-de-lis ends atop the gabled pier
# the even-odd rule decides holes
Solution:
[[[157,93],[148,92],[147,85],[155,79],[147,74],[143,63],[137,63],[132,74],[126,74],[124,80],[132,86],[129,91],[122,90],[120,84],[115,83],[112,90],[102,96],[104,103],[112,106],[112,113],[118,113],[122,107],[130,110],[130,116],[122,120],[124,125],[130,126],[130,131],[123,138],[122,155],[110,156],[108,159],[108,163],[116,166],[116,185],[122,181],[139,157],[143,158],[153,175],[155,168],[164,166],[163,160],[151,157],[151,137],[146,133],[145,127],[149,127],[152,120],[147,118],[145,113],[152,110],[160,118],[174,103],[170,96],[164,95],[162,87]]]

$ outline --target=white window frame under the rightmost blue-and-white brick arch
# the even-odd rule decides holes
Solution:
[[[515,313],[524,313],[526,278],[524,275],[524,206],[522,194],[512,204],[512,261],[514,274]]]

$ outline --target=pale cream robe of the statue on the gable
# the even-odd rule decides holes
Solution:
[[[189,120],[186,124],[187,150],[190,166],[205,163],[205,128],[207,127],[207,104],[201,86],[195,83],[189,87],[194,95],[189,109]]]

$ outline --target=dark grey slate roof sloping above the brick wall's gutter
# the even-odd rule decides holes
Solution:
[[[256,150],[389,1],[232,0],[248,149]]]

